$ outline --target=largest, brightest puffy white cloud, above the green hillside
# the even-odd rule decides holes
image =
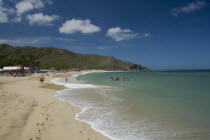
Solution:
[[[99,32],[100,27],[91,24],[89,19],[86,20],[67,20],[63,25],[59,28],[60,33],[64,34],[73,34],[75,32],[81,32],[83,34],[91,34],[95,32]]]

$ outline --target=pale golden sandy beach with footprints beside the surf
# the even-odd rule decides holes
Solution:
[[[81,109],[55,98],[63,86],[50,81],[75,72],[45,76],[0,77],[1,140],[107,140],[87,123],[75,119]],[[44,74],[46,75],[46,74]]]

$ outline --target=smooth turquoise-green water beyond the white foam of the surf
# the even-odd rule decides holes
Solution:
[[[109,77],[129,81],[109,81]],[[135,114],[135,119],[139,115],[162,123],[162,128],[172,129],[171,134],[183,130],[189,138],[210,138],[210,71],[92,73],[81,78],[124,89],[117,97],[132,107],[127,113]]]

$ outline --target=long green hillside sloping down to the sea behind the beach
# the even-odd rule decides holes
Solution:
[[[0,45],[0,67],[9,64],[56,69],[147,69],[141,65],[122,61],[112,56],[79,54],[53,47],[12,47],[2,44]]]

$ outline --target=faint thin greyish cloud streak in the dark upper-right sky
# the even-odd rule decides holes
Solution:
[[[178,16],[181,13],[191,13],[201,9],[206,3],[204,1],[192,2],[184,7],[177,7],[172,9],[171,13],[173,16]]]

